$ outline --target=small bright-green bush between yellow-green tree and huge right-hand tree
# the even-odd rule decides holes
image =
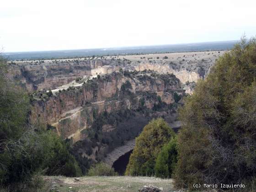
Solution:
[[[170,178],[177,163],[177,139],[172,138],[165,144],[157,156],[155,163],[155,176]]]

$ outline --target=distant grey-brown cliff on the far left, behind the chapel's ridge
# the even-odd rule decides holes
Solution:
[[[91,75],[88,62],[12,65],[10,71],[10,77],[28,91],[54,89],[84,75]]]

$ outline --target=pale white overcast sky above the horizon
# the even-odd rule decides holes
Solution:
[[[238,40],[255,0],[1,0],[3,52]]]

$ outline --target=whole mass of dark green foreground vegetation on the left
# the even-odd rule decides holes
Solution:
[[[29,123],[28,94],[7,78],[7,70],[0,58],[0,185],[11,191],[29,191],[26,187],[38,171],[80,175],[68,145],[44,126]]]

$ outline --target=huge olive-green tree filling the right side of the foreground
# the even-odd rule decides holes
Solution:
[[[180,110],[177,187],[252,183],[256,176],[255,95],[256,38],[242,39],[219,58],[206,80],[197,83]]]

